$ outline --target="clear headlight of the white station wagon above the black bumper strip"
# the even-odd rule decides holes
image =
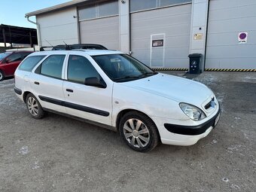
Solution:
[[[197,108],[194,105],[181,102],[179,106],[184,114],[186,114],[187,117],[190,117],[192,120],[203,120],[206,118],[206,114],[204,114],[200,108]]]

